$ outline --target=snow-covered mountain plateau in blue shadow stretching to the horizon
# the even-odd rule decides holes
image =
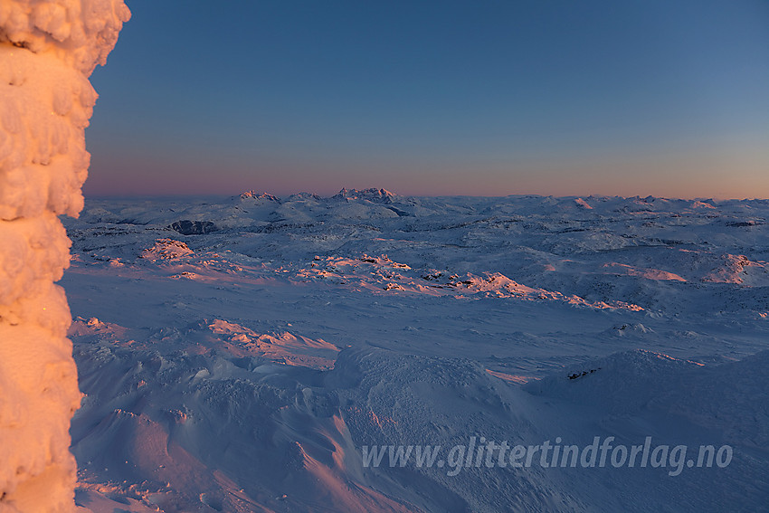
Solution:
[[[383,189],[87,200],[62,218],[76,502],[767,511],[767,218],[767,200]],[[482,440],[596,437],[687,460],[540,450],[512,466],[468,449],[450,468],[450,448]],[[728,464],[694,464],[708,445]],[[441,461],[366,464],[409,446]]]

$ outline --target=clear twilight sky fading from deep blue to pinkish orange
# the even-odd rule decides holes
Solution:
[[[769,197],[769,2],[127,0],[86,195]]]

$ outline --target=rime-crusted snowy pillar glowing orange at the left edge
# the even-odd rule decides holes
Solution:
[[[89,154],[88,77],[112,50],[122,0],[0,3],[0,509],[72,511],[70,420],[81,394],[61,287]]]

